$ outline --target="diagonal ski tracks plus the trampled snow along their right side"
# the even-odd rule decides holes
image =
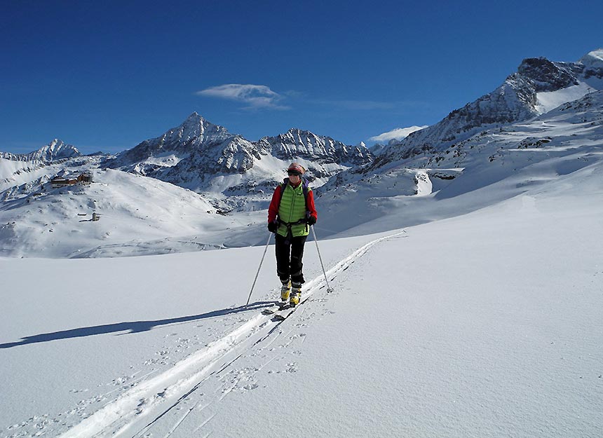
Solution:
[[[371,247],[386,239],[402,237],[405,231],[373,240],[355,250],[327,271],[334,280]],[[272,320],[257,310],[229,334],[205,345],[184,360],[157,374],[138,381],[116,399],[92,413],[62,434],[74,437],[170,437],[187,423],[195,412],[194,425],[187,432],[203,436],[203,427],[216,415],[219,402],[233,391],[258,388],[259,373],[280,374],[297,371],[296,355],[305,340],[306,320],[316,313],[318,296],[326,283],[323,275],[306,282],[303,306],[290,319],[291,324]],[[283,355],[283,352],[287,355]],[[238,360],[245,357],[245,361]],[[240,363],[241,367],[238,367]],[[266,371],[266,367],[270,369]],[[196,395],[196,397],[193,397]],[[200,418],[203,418],[200,420]],[[191,423],[191,422],[188,422]]]

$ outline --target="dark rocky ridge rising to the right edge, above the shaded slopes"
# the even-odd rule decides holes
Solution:
[[[452,111],[442,121],[388,145],[370,170],[418,154],[434,153],[489,128],[529,120],[558,105],[603,89],[603,49],[578,62],[523,60],[499,88]]]

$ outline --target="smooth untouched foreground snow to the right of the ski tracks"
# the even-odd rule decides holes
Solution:
[[[589,196],[521,196],[382,242],[299,328],[295,378],[229,399],[253,415],[226,426],[225,406],[217,434],[599,437],[599,214]],[[271,420],[282,406],[299,423]]]

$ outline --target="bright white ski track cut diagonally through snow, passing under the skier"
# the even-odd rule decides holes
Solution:
[[[330,281],[334,280],[337,274],[346,271],[351,264],[363,256],[374,245],[384,240],[404,237],[405,233],[406,231],[402,230],[398,233],[372,240],[372,242],[356,249],[350,256],[330,268],[326,272],[327,278]],[[313,280],[306,282],[304,301],[308,303],[323,301],[309,298],[325,287],[324,275],[318,275]],[[306,306],[307,303],[304,307],[296,310],[291,317],[294,320],[303,320],[307,310]],[[242,387],[243,390],[257,388],[257,382],[253,376],[262,368],[277,360],[277,356],[273,355],[273,357],[270,357],[269,360],[262,362],[257,367],[237,370],[234,364],[240,357],[246,354],[250,356],[259,355],[263,350],[275,350],[277,347],[273,347],[273,345],[277,341],[282,342],[278,345],[278,348],[288,348],[298,341],[300,344],[304,343],[305,334],[294,334],[294,331],[305,324],[296,324],[285,333],[280,327],[285,321],[273,321],[272,315],[263,315],[262,313],[250,317],[229,334],[209,343],[205,348],[201,348],[196,353],[177,362],[161,374],[148,380],[144,380],[144,378],[152,373],[142,376],[137,385],[126,390],[126,392],[119,395],[112,402],[109,402],[98,411],[92,413],[88,418],[82,420],[81,423],[67,430],[67,432],[60,435],[60,438],[149,437],[151,428],[161,420],[167,420],[168,414],[177,413],[175,418],[173,415],[170,417],[173,423],[172,425],[168,425],[167,430],[163,429],[165,432],[161,435],[164,438],[170,437],[187,420],[191,412],[197,411],[198,413],[202,413],[205,409],[210,409],[213,404],[224,399],[230,392],[238,388],[241,381],[250,382]],[[280,331],[277,329],[280,329]],[[262,347],[253,351],[259,344],[262,344]],[[286,367],[285,372],[295,372],[297,364],[290,362],[286,364]],[[201,400],[203,399],[200,398],[198,402],[192,404],[190,407],[181,406],[181,404],[187,404],[191,394],[201,388],[204,383],[207,383],[208,379],[212,376],[219,377],[219,385],[215,389],[215,392],[219,392],[219,394],[214,395],[213,401],[200,407]],[[175,409],[175,411],[172,411],[172,409]],[[182,409],[184,409],[184,413],[182,413]],[[194,432],[199,432],[215,415],[216,413],[210,413],[208,418],[203,420]]]

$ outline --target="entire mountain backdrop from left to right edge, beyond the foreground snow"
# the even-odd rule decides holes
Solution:
[[[597,162],[603,147],[603,91],[597,89],[602,83],[603,50],[574,63],[524,60],[495,92],[402,142],[391,142],[374,161],[364,144],[347,146],[298,129],[249,142],[198,114],[114,157],[65,158],[69,149],[67,155],[58,153],[59,142],[50,144],[48,153],[28,154],[30,161],[4,154],[3,254],[163,253],[186,250],[187,245],[173,243],[182,236],[179,242],[203,242],[204,247],[257,244],[265,233],[273,187],[291,160],[306,166],[313,178],[320,217],[316,230],[323,237],[388,231],[392,224],[409,226],[472,212]],[[55,160],[35,158],[52,153]],[[99,170],[106,167],[118,172]],[[109,189],[93,184],[48,190],[48,180],[56,174],[90,171],[100,177],[95,184]],[[173,184],[179,187],[172,189]],[[475,196],[491,191],[491,197]],[[126,199],[131,201],[119,202]],[[189,212],[184,204],[196,207]],[[104,231],[110,233],[108,239],[81,234],[74,212],[86,205],[97,205],[95,211],[105,218],[118,218],[113,225],[124,224],[127,235],[109,229]],[[166,224],[179,219],[166,215],[165,205],[174,214],[189,212],[179,218],[184,222]],[[90,210],[86,214],[92,208],[84,208]],[[146,221],[140,222],[141,210]],[[224,210],[231,212],[226,221],[216,214]],[[53,233],[72,231],[53,235],[64,241],[60,250],[48,244],[53,239],[36,234],[50,233],[49,222]],[[67,228],[58,225],[63,222]]]

